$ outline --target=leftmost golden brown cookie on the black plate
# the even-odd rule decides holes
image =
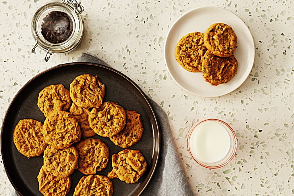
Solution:
[[[13,132],[13,142],[17,150],[27,158],[40,156],[47,146],[42,130],[42,122],[33,119],[20,120]]]

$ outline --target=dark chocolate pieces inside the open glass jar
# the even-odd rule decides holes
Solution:
[[[41,33],[51,43],[66,41],[73,32],[73,21],[62,11],[52,11],[43,18]]]

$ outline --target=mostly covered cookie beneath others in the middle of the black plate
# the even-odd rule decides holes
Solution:
[[[78,120],[78,125],[80,125],[83,137],[92,137],[96,135],[96,133],[93,131],[93,129],[91,129],[89,125],[89,109],[78,107],[76,104],[73,103],[69,108],[69,112],[74,115],[76,120]]]

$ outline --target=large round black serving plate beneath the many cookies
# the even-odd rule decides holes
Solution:
[[[32,118],[44,122],[44,114],[37,106],[39,92],[51,84],[63,84],[69,89],[70,83],[81,74],[97,75],[106,86],[104,101],[114,101],[126,110],[136,110],[142,115],[144,133],[137,144],[130,149],[140,149],[147,161],[147,170],[135,184],[126,184],[113,179],[113,195],[140,195],[150,181],[158,160],[160,149],[160,132],[153,108],[143,91],[124,74],[93,63],[66,63],[50,68],[27,82],[11,101],[6,112],[1,131],[1,154],[6,174],[20,195],[42,195],[39,192],[37,176],[43,165],[43,155],[30,159],[21,155],[16,149],[12,135],[20,119]],[[107,175],[112,170],[111,155],[123,148],[114,145],[109,138],[93,136],[107,143],[109,162],[105,169],[97,174]],[[86,139],[86,138],[82,138]],[[74,188],[84,174],[75,170],[71,175],[72,186],[68,195],[73,195]]]

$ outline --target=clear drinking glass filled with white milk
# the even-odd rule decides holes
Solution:
[[[237,150],[233,129],[222,120],[206,119],[194,125],[188,134],[188,151],[201,166],[215,169],[228,164]]]

